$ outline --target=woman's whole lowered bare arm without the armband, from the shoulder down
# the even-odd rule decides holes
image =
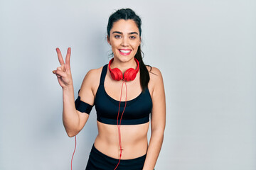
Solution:
[[[149,73],[149,86],[153,86],[153,91],[151,94],[153,103],[153,108],[151,111],[151,137],[143,170],[154,169],[156,160],[159,157],[161,145],[164,140],[164,128],[166,124],[166,101],[163,77],[159,69],[154,67],[152,67],[151,73]]]

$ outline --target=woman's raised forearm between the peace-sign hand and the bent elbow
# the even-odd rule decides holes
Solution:
[[[69,137],[78,133],[79,115],[75,109],[73,86],[63,89],[63,125]]]

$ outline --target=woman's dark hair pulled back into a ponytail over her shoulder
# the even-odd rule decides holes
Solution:
[[[139,28],[139,37],[142,35],[142,20],[137,16],[137,14],[132,11],[130,8],[122,8],[112,13],[107,23],[107,35],[110,37],[110,30],[113,27],[113,23],[119,21],[120,19],[124,20],[133,20],[137,27]],[[139,69],[140,69],[140,83],[142,86],[142,91],[146,89],[149,84],[149,71],[146,69],[146,65],[142,60],[142,50],[141,45],[139,45],[136,55],[134,56],[139,61]]]

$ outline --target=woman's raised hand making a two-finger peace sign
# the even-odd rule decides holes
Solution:
[[[57,69],[53,70],[53,74],[55,74],[58,78],[58,82],[60,86],[65,89],[70,86],[73,86],[73,80],[70,70],[70,53],[71,48],[68,47],[68,52],[65,57],[65,62],[63,60],[63,57],[61,55],[60,49],[56,48],[56,52],[58,54],[58,60],[60,62],[60,67],[57,67]]]

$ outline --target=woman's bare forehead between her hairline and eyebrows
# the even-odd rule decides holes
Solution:
[[[114,22],[110,32],[113,31],[119,31],[122,33],[137,32],[139,34],[139,28],[137,27],[136,23],[131,19],[120,19],[119,21]]]

